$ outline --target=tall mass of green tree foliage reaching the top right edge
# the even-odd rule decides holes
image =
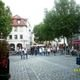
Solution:
[[[55,7],[50,11],[45,10],[43,24],[44,26],[40,24],[44,27],[40,29],[41,39],[43,36],[46,40],[53,40],[60,37],[69,39],[79,30],[80,6],[74,0],[55,0]]]

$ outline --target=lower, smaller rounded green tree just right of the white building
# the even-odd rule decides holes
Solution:
[[[52,29],[44,23],[40,23],[34,27],[34,34],[35,41],[51,41],[54,39]]]

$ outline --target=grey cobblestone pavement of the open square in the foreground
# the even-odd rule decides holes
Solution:
[[[73,56],[10,56],[11,80],[80,80]]]

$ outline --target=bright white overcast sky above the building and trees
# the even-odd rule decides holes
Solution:
[[[27,18],[33,27],[42,22],[44,18],[44,9],[50,10],[54,6],[54,0],[2,0],[10,7],[14,15]],[[80,0],[76,0],[77,3]]]

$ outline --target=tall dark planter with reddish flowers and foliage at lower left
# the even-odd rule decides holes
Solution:
[[[0,80],[9,79],[9,44],[0,39]]]

